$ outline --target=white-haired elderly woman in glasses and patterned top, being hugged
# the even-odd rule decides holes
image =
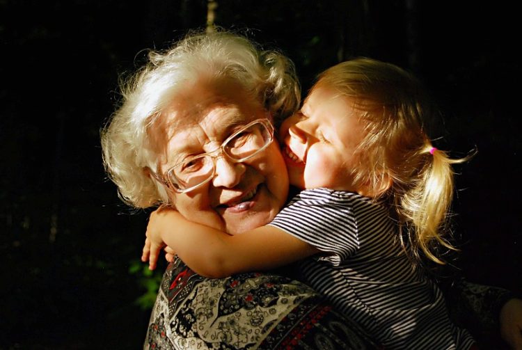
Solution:
[[[188,35],[151,53],[124,88],[102,131],[106,170],[129,205],[169,205],[240,234],[271,221],[287,200],[274,122],[299,98],[294,66],[278,52],[224,31]],[[208,279],[180,260],[169,264],[145,348],[283,347],[377,345],[297,280],[269,273]]]

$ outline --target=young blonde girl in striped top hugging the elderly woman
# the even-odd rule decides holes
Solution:
[[[144,261],[165,243],[212,277],[301,260],[306,282],[386,349],[469,349],[441,291],[416,264],[438,248],[452,200],[450,159],[424,125],[429,103],[395,65],[358,58],[323,72],[280,137],[304,189],[262,228],[230,236],[173,210],[151,217]],[[175,230],[172,228],[175,227]],[[150,256],[149,256],[150,255]]]

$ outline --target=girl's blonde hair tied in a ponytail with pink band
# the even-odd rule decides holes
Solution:
[[[312,90],[321,86],[350,97],[365,125],[358,165],[351,170],[354,183],[390,198],[407,236],[408,244],[400,234],[402,246],[412,257],[418,260],[422,251],[443,264],[438,248],[455,249],[445,238],[452,164],[469,157],[451,159],[433,147],[425,122],[436,110],[418,80],[396,65],[355,58],[320,74]]]

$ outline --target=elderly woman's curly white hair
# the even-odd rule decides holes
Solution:
[[[150,51],[148,63],[120,83],[120,106],[101,131],[106,173],[128,205],[168,202],[146,171],[157,168],[157,150],[164,147],[148,129],[176,94],[200,77],[236,81],[274,118],[285,118],[300,103],[292,61],[278,51],[262,51],[243,35],[194,31],[167,51]]]

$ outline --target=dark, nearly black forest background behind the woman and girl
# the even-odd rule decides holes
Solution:
[[[519,11],[503,2],[212,1],[295,62],[303,94],[351,56],[411,70],[443,111],[436,147],[461,157],[457,265],[521,292]],[[102,166],[100,127],[118,78],[187,30],[206,0],[0,0],[0,349],[140,349],[162,262],[139,262],[147,210],[126,207]]]

